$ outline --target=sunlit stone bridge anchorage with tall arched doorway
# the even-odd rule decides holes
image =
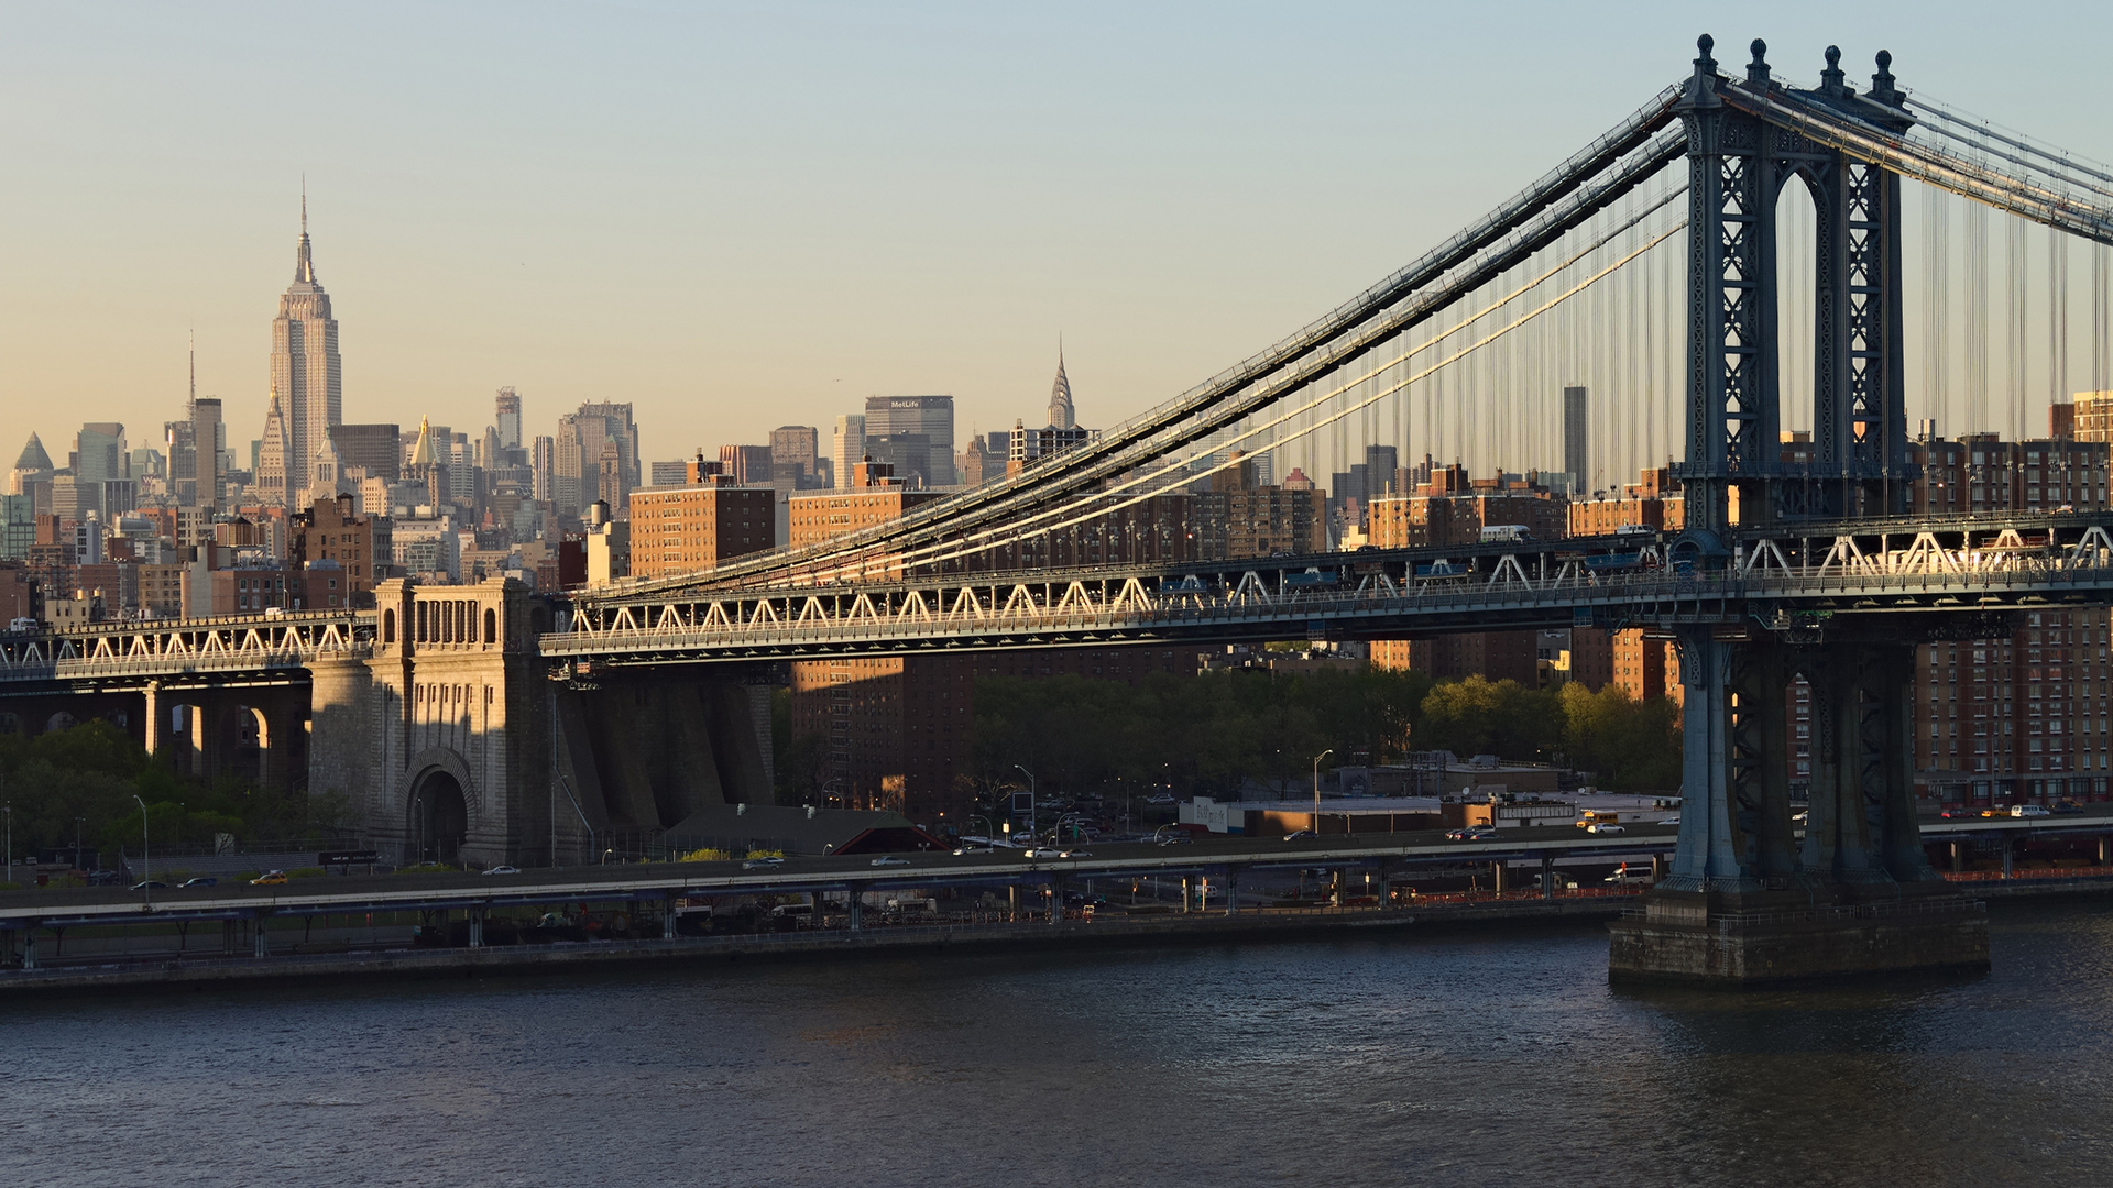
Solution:
[[[401,862],[564,865],[714,803],[769,803],[769,706],[704,668],[581,679],[503,577],[387,581],[370,655],[311,666],[308,788]],[[761,729],[759,729],[761,721]],[[621,852],[621,848],[619,848]]]

